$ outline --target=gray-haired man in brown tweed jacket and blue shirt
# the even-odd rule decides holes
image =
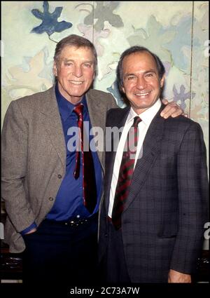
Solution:
[[[55,86],[14,100],[4,118],[5,238],[10,252],[24,251],[25,281],[88,283],[96,273],[104,154],[92,150],[85,159],[85,150],[78,154],[71,146],[70,130],[80,128],[82,135],[85,121],[92,140],[91,128],[104,130],[106,111],[117,105],[111,94],[91,89],[97,53],[90,41],[67,36],[54,60]],[[165,116],[182,112],[174,104],[166,109]]]

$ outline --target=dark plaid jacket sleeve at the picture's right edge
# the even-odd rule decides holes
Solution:
[[[207,221],[207,154],[200,125],[186,130],[177,157],[179,229],[172,254],[171,269],[193,273],[204,240]]]

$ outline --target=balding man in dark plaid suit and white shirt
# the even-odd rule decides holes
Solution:
[[[106,280],[190,283],[207,220],[202,129],[183,116],[160,116],[165,67],[147,48],[125,50],[117,76],[130,107],[109,110],[106,120],[107,128],[123,128],[106,152],[99,225]],[[127,146],[132,126],[139,131],[134,150]]]

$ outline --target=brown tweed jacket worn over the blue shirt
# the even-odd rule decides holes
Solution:
[[[106,111],[117,107],[113,96],[89,90],[87,107],[92,127],[104,130]],[[104,154],[98,152],[104,169]],[[55,87],[14,100],[2,130],[2,197],[8,217],[5,241],[10,252],[22,252],[20,231],[48,214],[65,175],[66,144]]]

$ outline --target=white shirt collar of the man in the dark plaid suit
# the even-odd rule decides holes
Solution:
[[[127,116],[126,124],[130,123],[130,121],[133,121],[134,117],[139,116],[141,120],[146,124],[146,126],[148,126],[155,117],[155,114],[157,114],[157,112],[159,111],[160,107],[160,98],[157,100],[157,102],[155,102],[155,104],[153,104],[152,107],[149,107],[148,109],[146,109],[146,111],[139,115],[131,107],[130,112]]]

